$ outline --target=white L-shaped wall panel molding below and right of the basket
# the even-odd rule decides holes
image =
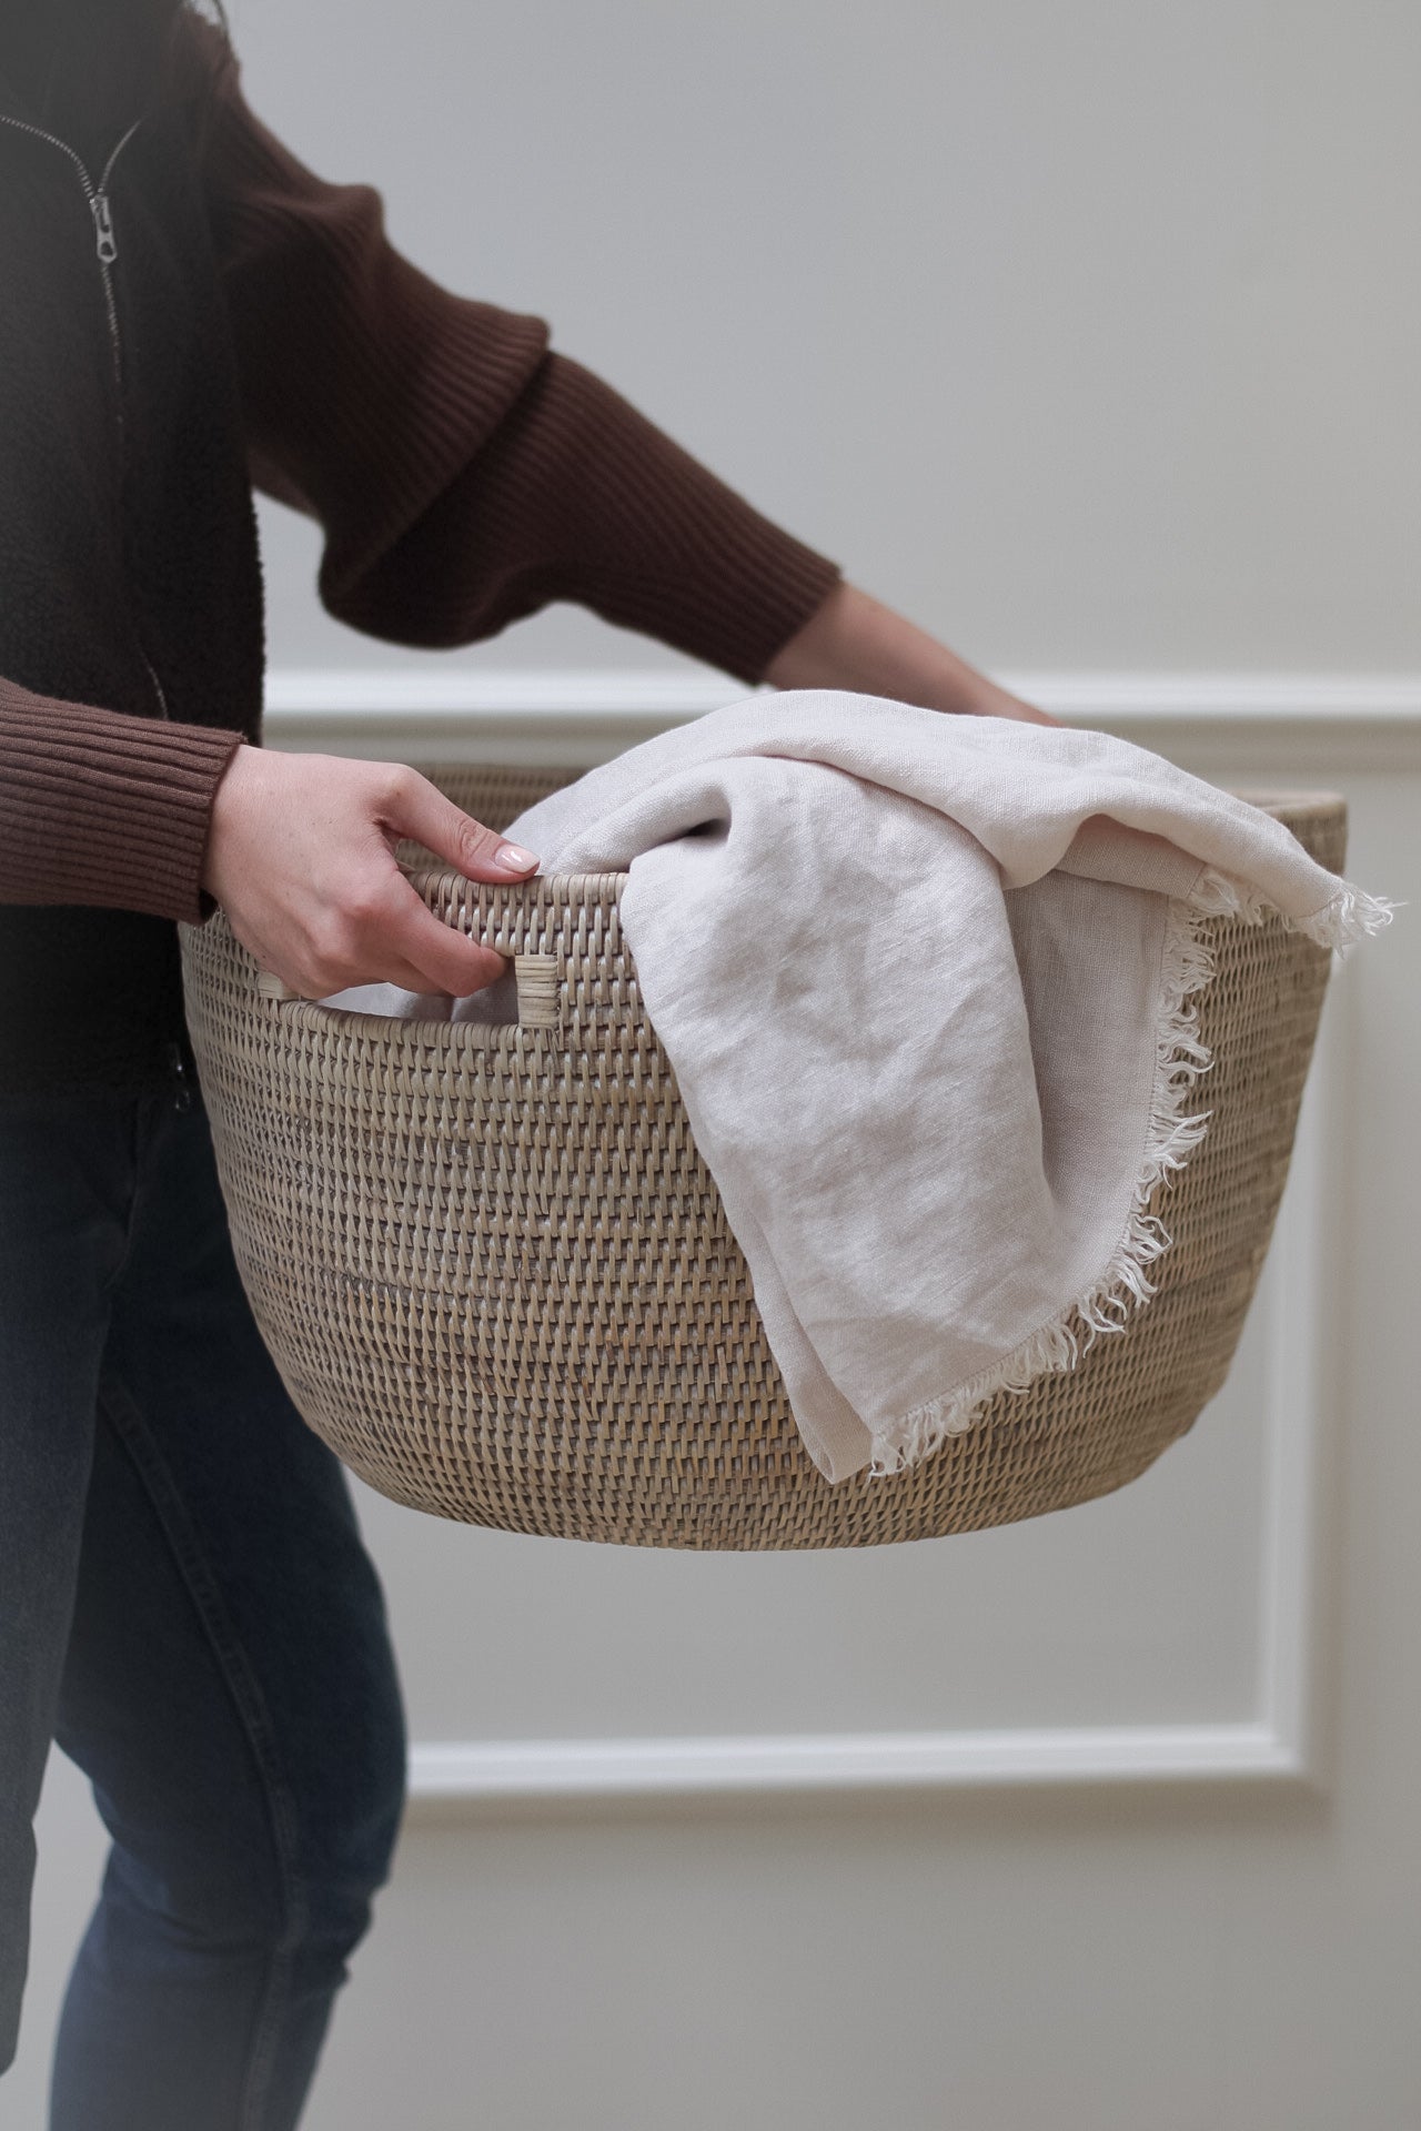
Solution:
[[[1257,1703],[1246,1720],[722,1735],[667,1739],[422,1741],[411,1750],[411,1820],[511,1807],[675,1801],[775,1792],[839,1796],[1065,1784],[1317,1784],[1319,1468],[1327,1426],[1325,1298],[1338,1102],[1334,982],[1308,1080],[1289,1187],[1272,1245],[1265,1325],[1263,1511],[1257,1539]]]

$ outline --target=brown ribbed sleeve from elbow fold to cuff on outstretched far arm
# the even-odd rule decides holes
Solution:
[[[548,356],[479,456],[326,603],[373,635],[469,644],[554,599],[758,682],[839,582],[611,386]]]

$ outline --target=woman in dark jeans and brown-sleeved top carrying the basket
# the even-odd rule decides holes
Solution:
[[[435,288],[181,0],[0,15],[0,2063],[51,1737],[113,1833],[58,2131],[294,2125],[401,1813],[381,1596],[236,1283],[175,921],[320,995],[475,991],[394,865],[537,861],[258,746],[251,482],[403,644],[554,599],[741,682],[1040,716],[767,524],[539,320]]]

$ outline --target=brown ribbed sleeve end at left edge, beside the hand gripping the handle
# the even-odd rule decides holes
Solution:
[[[202,923],[213,795],[241,742],[0,680],[0,901]]]

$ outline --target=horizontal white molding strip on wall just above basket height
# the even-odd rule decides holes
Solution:
[[[1289,774],[1421,767],[1421,673],[1003,673],[1006,686],[1069,725],[1170,752],[1208,748],[1227,769]],[[277,669],[266,684],[273,746],[375,761],[607,761],[748,690],[682,669],[411,665]]]

